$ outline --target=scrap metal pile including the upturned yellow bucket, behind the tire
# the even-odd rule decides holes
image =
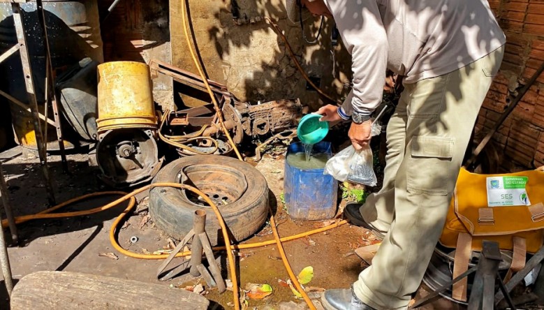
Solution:
[[[183,108],[166,111],[156,108],[151,79],[159,74],[168,75],[182,85],[179,96]],[[293,128],[304,112],[299,100],[251,105],[238,101],[224,85],[213,81],[209,84],[235,144],[246,137],[258,144],[271,136],[278,138],[277,134],[282,134],[279,138],[294,138]],[[181,157],[228,155],[233,150],[221,132],[203,81],[161,61],[152,60],[149,66],[131,61],[99,65],[98,96],[89,98],[96,102],[98,110],[97,144],[89,163],[100,169],[100,178],[110,186],[148,182],[159,171],[170,149]],[[191,99],[200,101],[200,105],[192,108],[186,105],[185,101]],[[256,157],[260,159],[259,150]]]

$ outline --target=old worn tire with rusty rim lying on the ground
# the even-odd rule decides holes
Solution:
[[[153,183],[193,185],[216,203],[230,239],[241,241],[253,235],[267,219],[268,185],[249,163],[216,155],[179,158],[163,167]],[[149,213],[158,228],[182,239],[193,228],[196,210],[206,211],[205,229],[212,245],[222,244],[219,221],[212,207],[197,195],[172,187],[157,187],[149,193]]]

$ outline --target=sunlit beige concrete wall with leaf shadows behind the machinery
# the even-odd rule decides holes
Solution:
[[[240,15],[277,20],[304,70],[311,77],[321,78],[318,86],[333,98],[346,95],[344,83],[350,81],[351,57],[340,45],[337,47],[337,68],[333,76],[332,22],[325,22],[318,44],[302,44],[300,25],[287,20],[281,0],[189,1],[196,44],[212,80],[226,84],[241,101],[301,98],[314,109],[322,104],[316,91],[307,90],[307,82],[295,68],[286,45],[269,24],[235,25],[231,13],[233,2],[237,3]],[[196,73],[183,34],[181,3],[170,1],[172,64]],[[307,21],[306,27],[311,29],[305,32],[309,38],[314,38],[318,26],[318,17]]]

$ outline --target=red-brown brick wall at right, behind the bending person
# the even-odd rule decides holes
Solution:
[[[501,71],[480,110],[476,132],[486,133],[544,61],[544,0],[489,0],[506,34]],[[531,86],[492,142],[501,170],[544,165],[544,73]]]

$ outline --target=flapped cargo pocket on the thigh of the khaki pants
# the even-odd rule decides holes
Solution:
[[[447,195],[453,191],[457,179],[457,174],[453,175],[451,171],[454,145],[455,138],[413,137],[406,171],[406,186],[410,193]]]

